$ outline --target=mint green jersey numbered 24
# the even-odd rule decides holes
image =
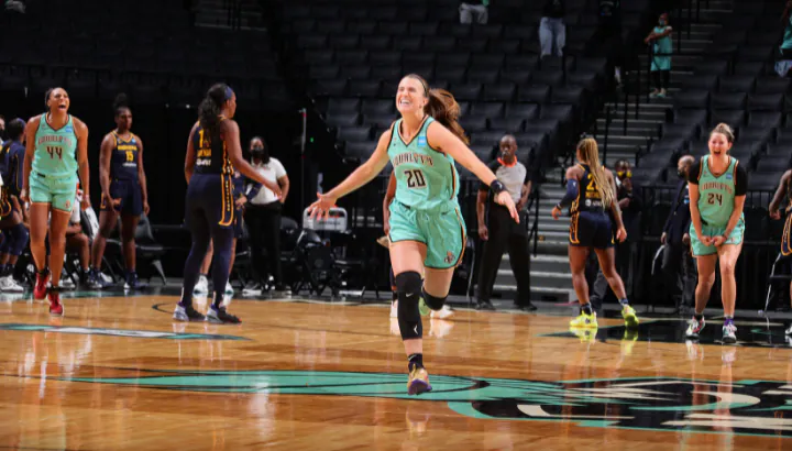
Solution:
[[[716,177],[710,170],[710,155],[701,160],[698,175],[698,211],[707,226],[726,227],[734,211],[737,191],[737,160],[729,157],[725,173]]]

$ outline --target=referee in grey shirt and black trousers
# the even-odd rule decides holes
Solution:
[[[490,163],[490,169],[497,176],[521,211],[528,204],[531,179],[525,165],[517,161],[517,141],[510,134],[501,139],[501,157]],[[525,217],[516,223],[506,208],[493,201],[490,188],[482,184],[476,199],[479,237],[484,242],[484,253],[479,271],[477,310],[495,310],[490,298],[497,277],[501,260],[505,251],[509,253],[509,263],[517,279],[515,308],[534,311],[530,301],[530,255],[528,253],[528,231]]]

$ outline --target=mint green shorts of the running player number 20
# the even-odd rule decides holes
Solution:
[[[394,200],[391,202],[392,243],[418,241],[427,245],[424,265],[433,270],[457,267],[462,261],[465,223],[459,206],[449,205],[440,211],[415,210]]]

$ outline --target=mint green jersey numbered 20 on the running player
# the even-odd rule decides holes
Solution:
[[[392,130],[388,157],[396,175],[398,202],[416,210],[441,210],[458,205],[459,174],[451,156],[429,146],[427,130],[435,119],[427,117],[413,141],[399,134],[402,119]]]

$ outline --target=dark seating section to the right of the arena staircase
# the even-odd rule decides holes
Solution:
[[[792,163],[792,122],[785,119],[790,80],[773,70],[783,32],[779,21],[782,11],[780,2],[735,3],[732,13],[719,18],[722,31],[674,96],[658,141],[639,160],[638,170],[646,168],[673,183],[661,173],[675,173],[676,158],[683,153],[705,154],[710,130],[717,123],[728,123],[736,133],[730,153],[749,172],[747,240],[780,237],[774,221],[767,220],[767,207],[781,175]],[[653,199],[654,206],[667,207],[670,199],[664,197],[672,190],[656,193],[659,197]],[[662,216],[666,210],[653,211]],[[661,222],[650,220],[649,233],[658,234]]]

